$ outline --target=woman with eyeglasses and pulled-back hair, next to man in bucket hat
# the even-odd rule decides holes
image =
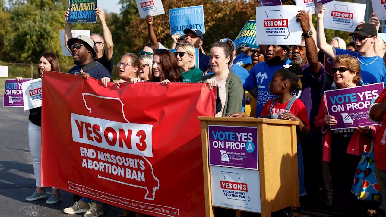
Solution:
[[[115,87],[117,89],[119,88],[120,83],[125,83],[131,81],[131,79],[137,78],[139,70],[142,69],[139,58],[133,53],[124,54],[117,63],[117,66],[119,68],[119,77],[121,78],[119,81],[115,82]]]

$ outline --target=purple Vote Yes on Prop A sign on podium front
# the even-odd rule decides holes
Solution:
[[[257,170],[257,128],[208,125],[209,165]]]

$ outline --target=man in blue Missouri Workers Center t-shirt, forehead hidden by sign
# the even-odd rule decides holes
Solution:
[[[279,68],[291,63],[287,58],[289,47],[286,45],[267,45],[266,61],[257,63],[250,71],[245,80],[244,89],[248,90],[257,99],[256,115],[261,111],[268,100],[276,97],[269,93],[268,84],[272,76]]]

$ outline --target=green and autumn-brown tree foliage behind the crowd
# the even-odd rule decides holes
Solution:
[[[283,0],[284,1],[284,0]],[[68,0],[9,0],[9,8],[0,0],[0,61],[5,63],[38,63],[44,51],[56,53],[61,71],[73,66],[72,57],[61,52],[59,31],[64,30],[63,14]],[[292,2],[291,0],[287,2]],[[139,54],[149,41],[147,24],[138,14],[135,0],[120,0],[120,14],[107,13],[106,21],[114,42],[114,62],[128,52]],[[157,39],[166,47],[171,46],[169,30],[169,9],[203,5],[206,34],[203,48],[209,51],[213,42],[221,38],[234,39],[248,20],[256,19],[255,7],[258,0],[163,0],[165,14],[154,17],[154,31]],[[314,24],[316,17],[313,16]],[[103,34],[97,24],[72,24],[74,30],[90,30]],[[348,32],[326,29],[327,40],[334,36],[350,42]],[[36,67],[36,66],[34,66]],[[30,66],[9,68],[10,77],[30,77]],[[37,70],[34,70],[37,77]],[[113,76],[117,79],[117,68]]]

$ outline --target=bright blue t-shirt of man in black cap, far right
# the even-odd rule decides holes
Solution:
[[[361,83],[362,85],[369,85],[375,83],[386,82],[386,68],[383,58],[380,56],[366,57],[361,56],[357,51],[348,51],[335,48],[336,55],[349,54],[359,60],[361,64]]]

